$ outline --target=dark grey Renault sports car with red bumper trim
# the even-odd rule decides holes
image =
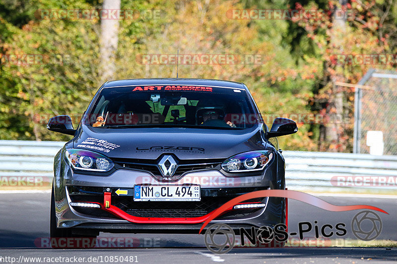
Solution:
[[[243,83],[130,79],[103,84],[55,157],[51,237],[99,232],[198,233],[211,213],[253,191],[285,189],[277,136],[296,123],[263,122]],[[215,218],[233,228],[285,223],[284,198],[240,203]]]

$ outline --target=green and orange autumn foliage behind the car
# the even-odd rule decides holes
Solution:
[[[40,16],[63,8],[95,10],[101,1],[0,0],[0,139],[67,140],[47,131],[43,118],[77,116],[106,81],[99,73],[100,19]],[[144,54],[233,54],[238,63],[180,64],[179,77],[243,82],[264,116],[321,115],[321,122],[298,122],[297,134],[279,138],[281,149],[351,152],[354,88],[340,83],[356,84],[369,68],[396,67],[337,61],[338,54],[396,53],[397,9],[389,1],[132,0],[121,8],[136,12],[119,20],[112,79],[176,77],[174,63],[142,63]],[[236,9],[323,15],[233,19]],[[139,15],[145,10],[156,16]],[[41,57],[17,62],[23,54]],[[337,114],[343,123],[332,124]]]

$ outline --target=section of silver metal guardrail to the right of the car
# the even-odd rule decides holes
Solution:
[[[354,192],[397,193],[396,185],[352,186],[352,182],[347,181],[346,186],[338,186],[334,180],[337,176],[394,176],[396,179],[397,156],[303,151],[285,151],[283,156],[286,185],[291,190],[348,192],[354,188]]]

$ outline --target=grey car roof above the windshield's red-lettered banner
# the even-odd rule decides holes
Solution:
[[[217,86],[217,87],[232,87],[243,88],[246,86],[243,83],[211,80],[211,79],[184,79],[184,78],[148,78],[148,79],[126,79],[106,82],[102,88],[133,86],[133,85],[199,85],[199,86]]]

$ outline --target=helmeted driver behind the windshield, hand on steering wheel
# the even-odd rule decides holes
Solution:
[[[206,123],[211,122],[211,120],[220,120],[225,122],[223,120],[224,117],[224,107],[214,103],[213,101],[205,102],[205,106],[200,106],[200,103],[197,105],[196,118],[198,125],[205,125]],[[236,125],[230,121],[225,122],[225,124],[231,127],[236,127]]]

